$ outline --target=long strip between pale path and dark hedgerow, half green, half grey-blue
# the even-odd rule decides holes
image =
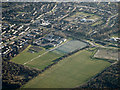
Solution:
[[[65,44],[61,45],[60,47],[40,56],[39,58],[28,62],[26,65],[43,70],[48,65],[52,64],[53,60],[65,55],[67,53],[73,52],[76,49],[81,49],[85,46],[86,46],[86,43],[84,43],[84,42],[81,42],[78,40],[71,40],[71,41],[68,41]]]

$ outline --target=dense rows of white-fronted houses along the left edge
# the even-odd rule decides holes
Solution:
[[[30,31],[28,26],[17,24],[5,24],[2,25],[2,42],[0,50],[2,51],[2,57],[14,57],[23,47],[28,43],[23,34],[27,34]]]

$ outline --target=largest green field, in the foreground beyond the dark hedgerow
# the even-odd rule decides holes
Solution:
[[[74,88],[98,74],[109,62],[91,59],[93,51],[82,50],[52,66],[22,88]]]

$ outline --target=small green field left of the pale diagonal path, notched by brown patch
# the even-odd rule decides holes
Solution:
[[[28,62],[29,60],[35,58],[36,56],[46,52],[43,48],[38,53],[30,53],[29,48],[31,45],[29,45],[24,51],[22,51],[20,54],[18,54],[16,57],[14,57],[11,61],[18,63],[18,64],[24,64],[25,62]]]

